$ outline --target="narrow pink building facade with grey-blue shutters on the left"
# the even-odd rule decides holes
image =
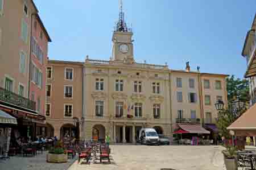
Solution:
[[[28,96],[36,102],[36,111],[45,117],[46,103],[46,64],[48,42],[51,38],[38,14],[33,14],[31,19],[31,48],[30,48],[30,88]],[[45,135],[44,126],[36,124],[36,135]]]

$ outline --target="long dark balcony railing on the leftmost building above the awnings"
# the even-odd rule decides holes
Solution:
[[[36,103],[30,99],[19,96],[16,93],[10,92],[0,87],[0,101],[10,103],[19,107],[24,107],[30,110],[36,110]]]

